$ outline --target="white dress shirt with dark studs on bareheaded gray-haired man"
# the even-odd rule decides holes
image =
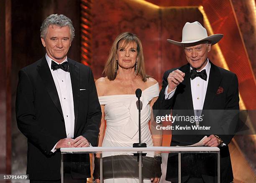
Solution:
[[[73,138],[74,137],[74,100],[73,100],[70,73],[62,69],[52,70],[51,69],[52,59],[47,55],[47,53],[45,57],[49,65],[49,68],[51,70],[51,75],[54,79],[54,83],[59,95],[59,101],[61,103],[61,109],[64,116],[64,123],[65,123],[67,138]],[[67,57],[61,63],[64,63],[66,61],[67,61]],[[55,146],[51,150],[52,152],[55,152]]]

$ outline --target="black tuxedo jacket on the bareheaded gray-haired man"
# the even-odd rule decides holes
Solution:
[[[96,146],[102,113],[92,71],[67,60],[74,100],[74,138],[82,135]],[[28,139],[29,178],[60,179],[61,154],[59,150],[52,153],[51,149],[67,135],[59,95],[45,56],[19,71],[15,108],[18,128]],[[81,161],[80,170],[84,177],[90,177],[89,155],[76,155],[73,160],[74,168]]]

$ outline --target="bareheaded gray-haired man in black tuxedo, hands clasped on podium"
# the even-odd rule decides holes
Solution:
[[[46,55],[19,71],[16,118],[28,138],[31,182],[60,182],[59,149],[97,143],[100,103],[91,69],[67,58],[73,38],[72,21],[65,15],[50,15],[41,25]],[[71,155],[67,162],[64,178],[86,182],[89,155]]]

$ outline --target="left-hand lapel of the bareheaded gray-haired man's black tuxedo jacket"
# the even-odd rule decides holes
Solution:
[[[56,106],[56,108],[58,109],[59,113],[61,114],[61,116],[63,118],[61,104],[59,101],[59,95],[58,95],[54,80],[51,75],[51,70],[49,68],[49,65],[48,65],[45,57],[42,58],[41,63],[39,63],[37,65],[37,71],[38,71],[41,79],[43,80],[44,86],[45,86],[47,92],[49,93],[51,100],[53,101],[54,105]]]

